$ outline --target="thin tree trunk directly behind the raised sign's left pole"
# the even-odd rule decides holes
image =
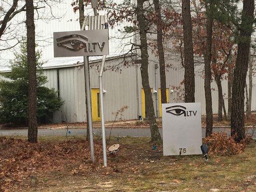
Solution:
[[[84,5],[84,0],[79,0],[78,2],[78,6],[79,6],[79,24],[80,24],[80,28],[82,28],[83,26],[83,22],[85,19],[85,5]],[[88,72],[89,74],[89,79],[90,79],[90,71]],[[89,84],[89,87],[91,87],[91,85]],[[91,93],[90,93],[91,94]],[[90,131],[89,131],[89,117],[88,117],[88,105],[87,105],[87,90],[86,90],[86,81],[85,81],[85,106],[86,106],[86,141],[90,140]]]

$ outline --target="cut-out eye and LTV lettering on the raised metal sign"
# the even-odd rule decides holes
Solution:
[[[81,38],[83,41],[79,39],[66,40],[69,38]],[[59,38],[56,38],[56,41],[57,41],[58,47],[66,48],[71,51],[79,51],[80,49],[84,48],[85,53],[95,52],[97,45],[99,50],[102,51],[105,45],[105,42],[103,42],[102,45],[100,45],[99,42],[92,42],[92,43],[84,42],[84,41],[88,41],[88,38],[86,36],[77,35],[77,34],[61,36]]]

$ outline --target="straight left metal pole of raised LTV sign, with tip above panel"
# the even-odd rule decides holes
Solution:
[[[85,17],[86,18],[86,17]],[[85,30],[86,19],[84,19],[81,31]],[[86,89],[86,101],[88,108],[88,124],[90,134],[90,148],[91,148],[91,161],[94,162],[94,146],[93,146],[93,127],[92,127],[92,106],[91,106],[91,90],[90,90],[90,77],[89,77],[89,57],[84,56],[85,67],[85,89]]]

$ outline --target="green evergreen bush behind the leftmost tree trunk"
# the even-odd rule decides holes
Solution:
[[[37,118],[58,110],[63,104],[54,89],[44,86],[47,77],[43,75],[43,63],[38,61],[40,56],[37,51]],[[1,73],[7,80],[0,81],[0,123],[27,123],[28,66],[25,44],[21,45],[21,53],[16,53],[10,63],[12,72]]]

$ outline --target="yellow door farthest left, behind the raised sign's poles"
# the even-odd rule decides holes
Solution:
[[[91,89],[92,94],[92,120],[100,121],[99,89]]]

